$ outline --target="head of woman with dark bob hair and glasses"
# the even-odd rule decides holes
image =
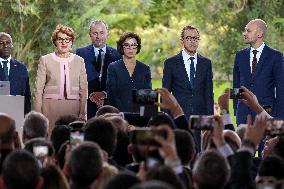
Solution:
[[[133,32],[123,33],[117,43],[117,51],[126,57],[135,56],[141,50],[141,38]]]

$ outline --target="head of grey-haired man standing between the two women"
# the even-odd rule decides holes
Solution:
[[[89,35],[96,48],[103,48],[108,37],[108,25],[104,20],[93,20],[89,26]]]

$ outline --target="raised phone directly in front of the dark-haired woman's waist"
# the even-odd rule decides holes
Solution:
[[[153,105],[158,102],[158,92],[152,89],[133,90],[133,102],[139,105]]]

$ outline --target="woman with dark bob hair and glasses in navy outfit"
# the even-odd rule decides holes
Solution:
[[[139,112],[139,107],[133,103],[132,90],[152,88],[150,67],[136,60],[140,49],[141,38],[137,34],[123,33],[117,41],[122,59],[108,67],[109,103],[121,112]]]

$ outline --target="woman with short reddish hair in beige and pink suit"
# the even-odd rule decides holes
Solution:
[[[74,39],[72,28],[57,25],[52,34],[55,52],[39,60],[34,109],[49,119],[49,136],[59,117],[86,117],[87,76],[83,58],[70,53]]]

